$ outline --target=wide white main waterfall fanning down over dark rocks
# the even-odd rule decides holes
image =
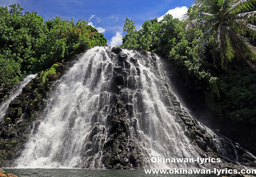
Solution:
[[[207,167],[143,162],[146,156],[201,156],[186,135],[187,126],[178,113],[182,110],[157,63],[160,58],[153,53],[122,50],[116,55],[108,47],[88,50],[54,85],[41,124],[14,166]],[[197,126],[207,131],[219,155],[237,159],[235,147],[229,154],[223,150],[228,140],[200,123]]]

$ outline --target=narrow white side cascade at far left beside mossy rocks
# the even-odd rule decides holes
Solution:
[[[37,74],[30,74],[19,83],[19,85],[11,92],[9,97],[7,98],[6,101],[0,104],[0,122],[2,122],[2,119],[4,118],[6,111],[9,107],[10,102],[21,93],[22,88],[31,81],[31,79],[35,78]]]

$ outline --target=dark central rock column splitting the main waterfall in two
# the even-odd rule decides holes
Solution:
[[[132,78],[131,63],[137,66],[137,60],[134,58],[128,59],[126,54],[120,53],[121,51],[121,48],[112,48],[111,57],[114,57],[115,64],[107,67],[112,77],[108,77],[110,83],[108,91],[111,96],[109,114],[107,116],[108,130],[104,129],[104,131],[109,131],[109,133],[106,142],[101,142],[103,143],[101,162],[104,165],[103,168],[106,169],[139,169],[143,164],[143,156],[141,148],[138,147],[135,140],[129,138],[131,137],[131,122],[129,123],[129,120],[134,116],[134,110],[132,104],[129,104],[129,94],[126,91],[127,88],[133,87],[135,89],[134,83],[129,82],[129,78]],[[129,63],[128,61],[133,62]],[[139,68],[137,70],[139,71]],[[134,74],[137,74],[138,71],[134,71]],[[130,77],[128,78],[128,76]],[[95,116],[97,117],[97,115]],[[136,127],[136,122],[132,122],[132,125]],[[86,152],[83,168],[91,167],[90,165],[93,161],[91,156],[99,150],[98,146],[95,147],[92,144],[95,144],[93,141],[95,141],[100,131],[102,130],[100,130],[99,125],[95,125],[88,137],[89,140],[85,143]]]

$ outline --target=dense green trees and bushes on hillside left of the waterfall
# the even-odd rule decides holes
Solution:
[[[0,100],[26,76],[45,70],[69,55],[94,46],[106,46],[106,38],[79,20],[60,17],[44,22],[36,12],[22,13],[20,4],[0,7]]]

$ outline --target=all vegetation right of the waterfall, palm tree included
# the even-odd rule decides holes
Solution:
[[[182,20],[167,14],[145,21],[140,30],[126,18],[122,47],[169,59],[175,83],[192,93],[186,99],[198,95],[192,103],[205,101],[216,114],[214,124],[229,137],[236,133],[237,141],[255,143],[255,5],[255,0],[196,0]]]

